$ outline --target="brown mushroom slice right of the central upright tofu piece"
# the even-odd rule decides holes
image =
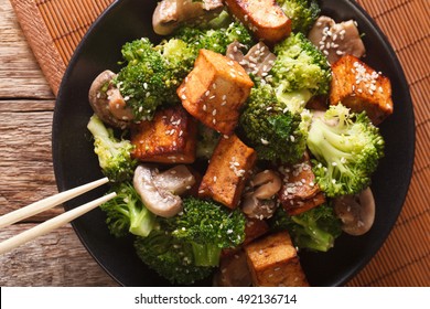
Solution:
[[[251,179],[250,185],[251,190],[244,194],[243,212],[259,220],[272,216],[278,205],[273,196],[282,185],[280,177],[272,170],[265,170]]]

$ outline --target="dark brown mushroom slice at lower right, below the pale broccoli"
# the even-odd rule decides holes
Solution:
[[[370,188],[358,194],[336,198],[333,203],[345,233],[359,236],[370,230],[375,221],[375,200]]]

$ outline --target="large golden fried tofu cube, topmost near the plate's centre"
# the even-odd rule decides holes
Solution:
[[[223,135],[232,135],[252,86],[236,61],[201,50],[176,93],[192,116]]]

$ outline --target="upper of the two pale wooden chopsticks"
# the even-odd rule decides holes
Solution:
[[[37,213],[41,213],[45,210],[52,209],[56,205],[60,205],[61,203],[64,203],[65,201],[68,201],[73,198],[76,198],[85,192],[88,192],[101,184],[107,183],[109,180],[107,178],[101,178],[99,180],[89,182],[87,184],[83,184],[80,187],[64,191],[62,193],[52,195],[50,198],[46,198],[44,200],[37,201],[35,203],[32,203],[25,207],[22,207],[20,210],[13,211],[11,213],[4,214],[0,216],[0,228],[8,226],[10,224],[13,224],[15,222],[19,222],[23,219],[30,217],[32,215],[35,215]]]

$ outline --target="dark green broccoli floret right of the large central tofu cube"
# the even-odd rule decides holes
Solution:
[[[304,113],[303,113],[304,115]],[[239,128],[262,160],[294,163],[304,153],[309,121],[279,102],[273,88],[261,84],[251,89]]]

